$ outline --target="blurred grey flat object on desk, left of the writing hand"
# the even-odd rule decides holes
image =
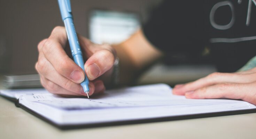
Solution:
[[[8,89],[42,87],[38,74],[6,75],[3,79],[3,85]]]

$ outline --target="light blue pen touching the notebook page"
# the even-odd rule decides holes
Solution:
[[[84,70],[84,60],[83,60],[83,54],[80,48],[80,44],[77,38],[75,26],[73,23],[73,16],[71,12],[71,4],[70,0],[58,0],[60,11],[61,11],[61,17],[65,24],[69,45],[71,49],[71,53],[73,56],[73,59],[75,63],[81,67]],[[89,80],[85,74],[85,80],[81,83],[81,86],[84,89],[84,92],[87,94],[87,97],[89,98]]]

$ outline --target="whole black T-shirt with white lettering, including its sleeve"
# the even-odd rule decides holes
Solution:
[[[211,62],[220,72],[235,72],[256,56],[255,17],[254,0],[166,0],[143,32],[168,63]]]

